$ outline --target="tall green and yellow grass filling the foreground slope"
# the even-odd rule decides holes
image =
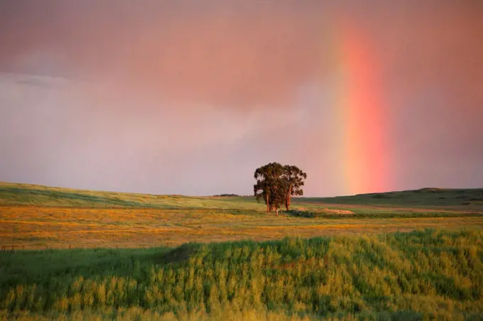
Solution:
[[[0,252],[0,317],[483,317],[483,232]]]

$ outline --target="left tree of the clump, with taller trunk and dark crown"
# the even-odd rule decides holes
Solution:
[[[283,165],[280,163],[268,163],[255,170],[254,195],[257,201],[264,200],[266,212],[275,210],[278,214],[285,202],[286,186],[282,175]]]

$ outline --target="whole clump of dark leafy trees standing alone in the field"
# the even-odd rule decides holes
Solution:
[[[255,170],[254,195],[257,201],[264,200],[266,211],[273,210],[278,215],[278,209],[285,205],[290,209],[291,197],[303,195],[303,180],[307,174],[293,165],[268,163]]]

